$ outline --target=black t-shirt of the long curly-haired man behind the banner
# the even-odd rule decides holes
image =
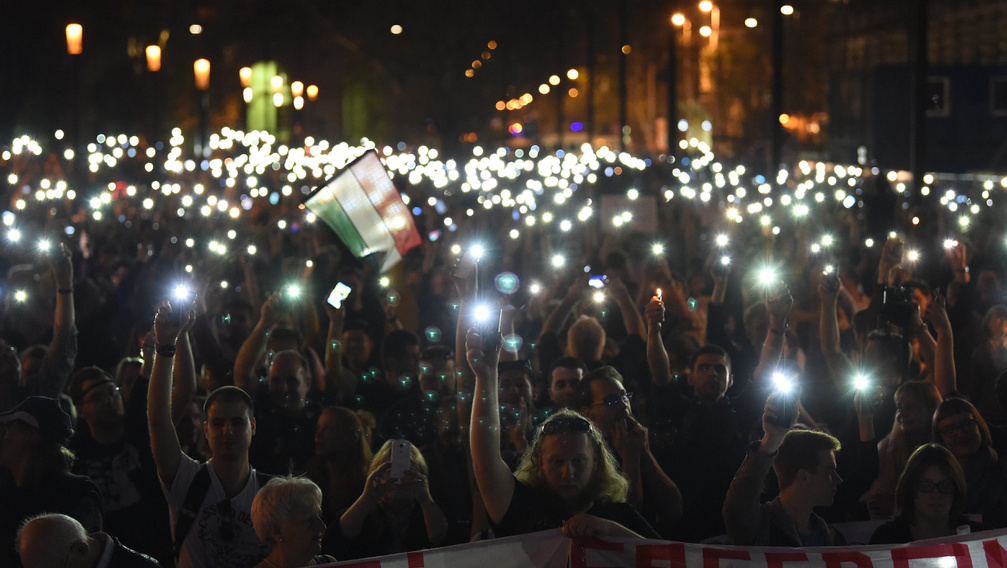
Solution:
[[[596,502],[587,515],[600,517],[622,525],[645,539],[660,539],[661,535],[627,503]],[[563,503],[547,489],[534,487],[521,480],[514,480],[514,495],[499,524],[493,524],[493,535],[510,537],[558,529],[573,517]]]

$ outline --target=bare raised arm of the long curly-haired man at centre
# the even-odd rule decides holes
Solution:
[[[465,340],[468,365],[475,374],[469,439],[472,470],[486,514],[499,523],[511,507],[515,478],[500,455],[500,416],[496,397],[499,349],[482,350],[482,338],[469,329]]]

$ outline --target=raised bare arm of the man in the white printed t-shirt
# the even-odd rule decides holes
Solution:
[[[150,425],[150,449],[154,454],[157,474],[168,487],[175,479],[182,448],[171,421],[171,369],[180,332],[192,324],[192,313],[186,314],[181,331],[171,322],[171,306],[164,302],[154,316],[154,366],[150,372],[147,394],[147,420]]]

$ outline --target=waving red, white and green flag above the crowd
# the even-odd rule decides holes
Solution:
[[[382,272],[421,243],[412,211],[374,150],[312,191],[303,205],[331,227],[357,258],[386,253]]]

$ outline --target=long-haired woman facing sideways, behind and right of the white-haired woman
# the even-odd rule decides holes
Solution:
[[[374,417],[341,406],[330,406],[318,416],[315,455],[308,477],[321,487],[322,518],[331,525],[336,513],[352,505],[364,490],[371,467],[371,431]]]

